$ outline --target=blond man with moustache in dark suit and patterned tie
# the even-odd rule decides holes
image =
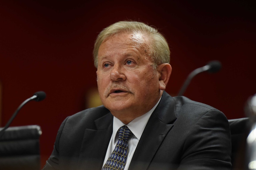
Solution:
[[[120,163],[113,156],[119,140],[128,148],[118,153],[124,161],[116,169],[230,169],[227,118],[206,104],[168,95],[169,62],[168,44],[153,27],[124,21],[102,30],[94,63],[103,106],[64,120],[44,170],[108,169]],[[123,126],[126,140],[117,137]]]

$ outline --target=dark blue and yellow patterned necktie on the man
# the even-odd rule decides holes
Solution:
[[[122,126],[118,130],[118,141],[116,147],[109,156],[102,170],[123,170],[128,152],[128,139],[132,132],[127,126]]]

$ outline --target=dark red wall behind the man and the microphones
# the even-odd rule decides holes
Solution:
[[[86,108],[97,87],[92,49],[97,34],[119,20],[156,26],[171,48],[173,72],[166,91],[175,96],[187,75],[219,60],[215,74],[201,73],[185,96],[245,117],[246,100],[256,93],[255,1],[0,1],[1,126],[34,92],[11,126],[42,127],[42,166],[57,130],[69,115]]]

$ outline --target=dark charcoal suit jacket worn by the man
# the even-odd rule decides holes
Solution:
[[[104,106],[67,117],[43,170],[100,170],[112,126],[113,116]],[[164,92],[143,131],[129,170],[230,169],[230,155],[230,128],[221,111]]]

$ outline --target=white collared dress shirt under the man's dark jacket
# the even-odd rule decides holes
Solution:
[[[161,100],[161,98],[159,99],[159,101]],[[155,108],[157,107],[159,101],[157,102],[157,104],[150,110],[148,111],[146,114],[143,114],[140,117],[137,117],[135,119],[133,119],[129,124],[127,124],[127,127],[132,131],[133,135],[130,137],[130,139],[128,140],[128,153],[127,153],[127,160],[125,163],[125,167],[124,170],[128,170],[129,165],[131,163],[132,160],[132,156],[134,154],[134,151],[139,143],[140,137],[146,127],[146,124],[148,123],[148,119],[151,116],[151,114],[153,113],[153,111],[155,110]],[[108,160],[108,157],[110,156],[110,154],[113,152],[116,143],[118,141],[118,129],[121,126],[124,126],[125,124],[123,122],[121,122],[119,119],[117,119],[115,116],[113,118],[113,133],[112,136],[110,138],[109,144],[108,144],[108,150],[105,156],[105,160],[104,163],[102,165],[102,167],[105,165],[105,163]]]

